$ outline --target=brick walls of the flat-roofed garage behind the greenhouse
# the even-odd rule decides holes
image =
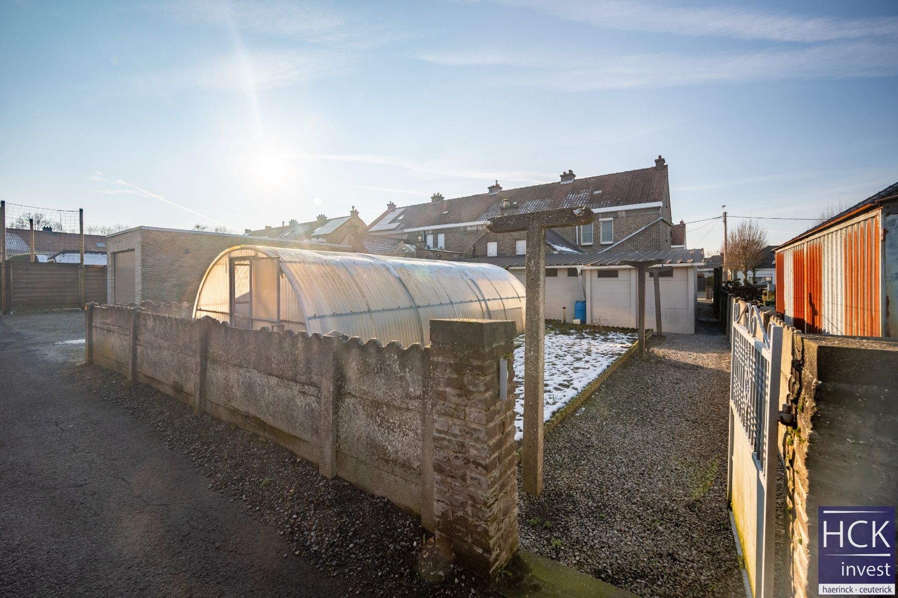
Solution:
[[[107,239],[109,275],[107,301],[115,303],[115,264],[117,251],[135,250],[136,302],[193,303],[199,283],[216,256],[234,245],[295,247],[341,251],[332,246],[316,247],[309,243],[245,237],[240,234],[198,231],[166,231],[138,228]],[[348,251],[342,250],[342,251]]]

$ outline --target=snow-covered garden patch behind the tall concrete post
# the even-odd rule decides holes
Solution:
[[[549,419],[627,352],[637,335],[628,332],[547,330],[543,421]],[[515,349],[515,440],[524,437],[524,335]]]

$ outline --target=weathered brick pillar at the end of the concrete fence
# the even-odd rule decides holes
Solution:
[[[486,579],[517,550],[514,338],[512,321],[430,321],[436,541]]]

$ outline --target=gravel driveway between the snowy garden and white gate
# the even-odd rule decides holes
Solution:
[[[700,322],[699,334],[657,339],[546,436],[545,489],[520,494],[522,547],[645,598],[744,597],[718,330]]]

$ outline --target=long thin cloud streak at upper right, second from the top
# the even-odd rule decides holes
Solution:
[[[476,52],[432,52],[420,58],[453,66],[507,66],[499,75],[491,75],[490,80],[568,91],[898,75],[898,43],[894,42],[839,42],[740,54],[601,56],[575,64],[550,52],[535,57],[489,51],[485,57]]]

